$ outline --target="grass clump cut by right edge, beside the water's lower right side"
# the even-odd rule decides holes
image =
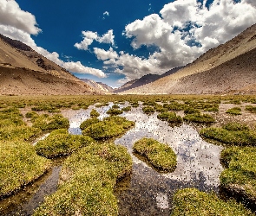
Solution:
[[[246,194],[251,200],[256,199],[256,148],[229,147],[222,150],[220,160],[226,169],[220,175],[220,184]],[[253,201],[254,202],[254,201]]]

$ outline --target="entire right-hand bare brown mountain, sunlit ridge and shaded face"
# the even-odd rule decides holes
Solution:
[[[123,94],[255,93],[256,24],[178,72]]]

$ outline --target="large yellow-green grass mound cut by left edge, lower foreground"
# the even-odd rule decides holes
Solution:
[[[35,181],[49,169],[49,160],[37,156],[30,143],[0,141],[0,149],[0,197]]]

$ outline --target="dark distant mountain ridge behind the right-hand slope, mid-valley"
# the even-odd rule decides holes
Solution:
[[[159,74],[147,74],[142,76],[140,79],[133,79],[131,81],[129,81],[128,83],[124,84],[123,86],[119,87],[118,89],[116,89],[114,92],[124,92],[139,86],[143,86],[146,85],[148,83],[152,83],[157,79],[161,79],[163,77],[166,77],[170,74],[176,73],[178,70],[180,70],[182,67],[175,67],[172,70],[167,71],[166,73],[163,73],[161,75]]]

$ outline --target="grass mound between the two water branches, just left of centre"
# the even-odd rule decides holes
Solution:
[[[126,129],[135,125],[134,122],[128,121],[126,118],[110,117],[104,118],[102,121],[91,124],[82,134],[85,136],[93,137],[94,139],[109,139],[118,137],[123,134]]]

